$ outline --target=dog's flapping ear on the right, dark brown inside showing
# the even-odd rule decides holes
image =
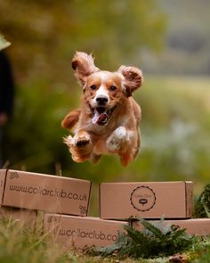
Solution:
[[[133,91],[140,87],[143,83],[143,75],[140,69],[135,67],[121,66],[118,72],[124,76],[123,88],[127,97],[133,94]]]

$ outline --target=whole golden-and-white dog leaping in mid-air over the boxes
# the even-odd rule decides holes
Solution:
[[[116,72],[100,70],[92,55],[77,52],[72,68],[83,87],[80,109],[70,111],[61,126],[74,136],[64,139],[77,162],[100,160],[101,154],[117,153],[127,165],[139,152],[141,108],[133,91],[141,86],[141,70],[121,66]]]

